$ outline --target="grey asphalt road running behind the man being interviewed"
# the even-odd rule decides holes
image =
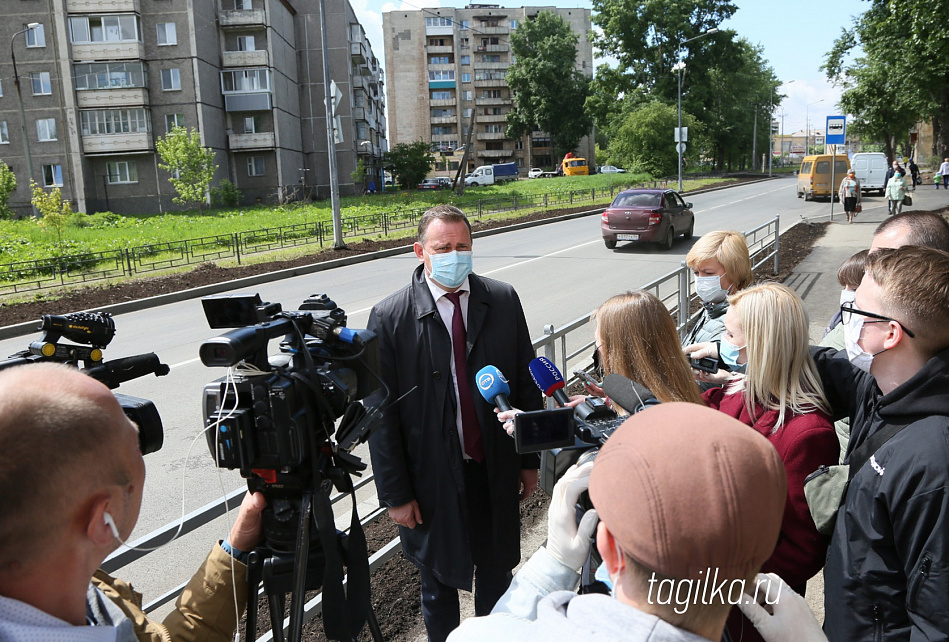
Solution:
[[[795,197],[790,179],[686,196],[694,205],[696,237],[716,229],[750,230],[780,215],[782,228],[808,217],[826,215],[828,203]],[[837,212],[839,213],[839,205]],[[478,239],[474,265],[478,274],[511,283],[523,302],[531,336],[545,324],[555,326],[588,314],[612,294],[635,289],[678,267],[691,243],[681,238],[669,252],[653,246],[620,245],[607,250],[600,238],[599,217],[589,216]],[[404,254],[308,276],[258,286],[265,301],[295,309],[307,296],[325,292],[349,315],[348,325],[365,327],[372,306],[408,283],[417,264]],[[51,310],[55,313],[55,310]],[[123,384],[121,392],[151,399],[165,426],[161,451],[146,457],[145,501],[132,539],[220,497],[242,481],[212,464],[201,428],[202,389],[223,375],[198,360],[202,341],[216,336],[198,300],[119,315],[117,333],[106,360],[155,352],[171,366],[161,379],[147,377]],[[0,341],[0,354],[26,347],[29,338]],[[276,342],[273,345],[276,348]],[[368,456],[365,457],[368,460]],[[371,493],[370,493],[371,494]],[[361,510],[362,512],[362,510]],[[124,569],[121,575],[146,594],[146,601],[186,580],[210,543],[223,538],[223,518]]]

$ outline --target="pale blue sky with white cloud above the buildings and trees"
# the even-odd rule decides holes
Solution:
[[[480,0],[487,4],[490,0]],[[674,0],[669,0],[673,2]],[[384,62],[382,14],[395,10],[418,10],[439,6],[464,7],[467,2],[452,0],[350,0],[376,57]],[[548,2],[495,0],[503,7],[556,6],[591,9],[589,0]],[[820,71],[824,57],[842,29],[850,28],[854,16],[869,7],[867,0],[736,0],[738,11],[720,28],[732,29],[752,44],[764,48],[763,56],[784,85],[786,95],[775,107],[784,131],[804,129],[805,117],[812,129],[823,130],[827,116],[837,115],[840,88],[832,86]],[[793,82],[792,82],[793,81]],[[820,102],[818,102],[820,101]]]

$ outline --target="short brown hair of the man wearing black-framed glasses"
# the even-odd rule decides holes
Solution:
[[[866,273],[882,290],[880,313],[909,328],[924,355],[949,347],[949,253],[914,245],[881,249],[867,258]]]

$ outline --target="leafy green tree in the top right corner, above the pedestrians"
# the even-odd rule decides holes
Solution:
[[[854,115],[858,129],[885,143],[890,158],[922,118],[933,119],[932,153],[949,156],[944,4],[871,0],[834,42],[822,67],[828,79],[846,88],[841,107]],[[864,56],[845,63],[857,46]]]

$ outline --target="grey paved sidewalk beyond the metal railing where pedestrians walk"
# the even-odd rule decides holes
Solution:
[[[904,207],[904,212],[934,210],[949,204],[949,192],[936,191],[932,185],[920,185],[911,194],[913,206]],[[825,214],[829,213],[829,210],[830,205],[827,205]],[[840,305],[841,286],[837,282],[837,269],[855,253],[870,247],[873,231],[886,218],[886,199],[880,196],[864,197],[863,211],[849,225],[843,208],[835,204],[834,222],[828,226],[827,233],[814,244],[810,255],[801,261],[794,273],[785,281],[785,285],[794,289],[804,299],[804,306],[810,320],[812,343],[817,343],[823,338],[824,328],[827,327],[827,323]],[[827,215],[814,216],[811,220],[826,221]],[[823,622],[823,573],[817,574],[807,583],[806,597],[818,621]]]

